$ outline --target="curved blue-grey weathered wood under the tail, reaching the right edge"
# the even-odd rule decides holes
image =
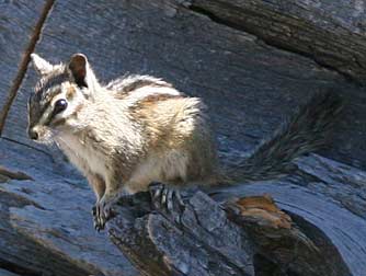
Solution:
[[[285,180],[210,191],[216,200],[263,193],[299,221],[317,226],[338,249],[351,275],[366,271],[365,193],[366,174],[343,163],[312,154],[297,161],[298,172]],[[311,237],[310,231],[305,231]],[[313,232],[312,237],[317,237]],[[336,275],[336,274],[335,274]]]

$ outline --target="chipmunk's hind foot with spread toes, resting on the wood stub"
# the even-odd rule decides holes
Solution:
[[[158,209],[174,211],[174,202],[180,209],[184,209],[184,203],[179,188],[168,186],[159,182],[152,182],[149,185],[151,202]]]

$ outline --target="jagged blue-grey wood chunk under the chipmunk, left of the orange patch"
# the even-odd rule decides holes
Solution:
[[[149,205],[142,210],[136,208],[149,203],[149,197],[140,196],[142,200],[139,196],[122,200],[123,207],[117,210],[122,216],[108,230],[140,272],[157,276],[254,275],[249,237],[207,196],[192,197],[181,222],[169,215],[149,214]]]

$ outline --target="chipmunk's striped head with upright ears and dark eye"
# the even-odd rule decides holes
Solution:
[[[78,113],[93,100],[99,82],[82,54],[73,55],[67,65],[55,66],[36,54],[31,57],[41,78],[28,99],[27,133],[31,139],[47,142],[72,126]]]

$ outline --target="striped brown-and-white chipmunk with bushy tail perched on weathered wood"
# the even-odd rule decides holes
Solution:
[[[207,107],[198,97],[150,76],[102,85],[88,58],[50,65],[32,54],[41,78],[28,100],[31,139],[55,141],[88,179],[96,196],[94,225],[104,228],[121,191],[147,191],[171,208],[179,188],[274,179],[294,158],[319,149],[341,110],[332,92],[316,94],[267,141],[236,168],[220,165]]]

